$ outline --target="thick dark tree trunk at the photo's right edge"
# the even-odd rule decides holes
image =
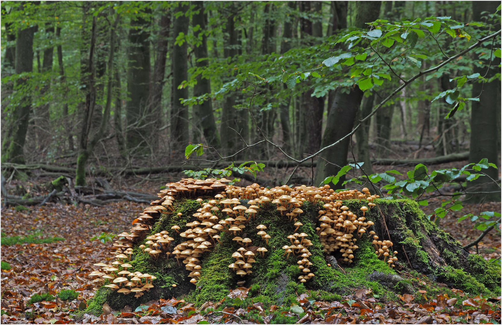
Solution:
[[[472,20],[481,21],[482,12],[494,13],[499,4],[496,2],[480,1],[472,3]],[[495,29],[500,28],[498,21]],[[493,45],[494,48],[500,47],[500,43]],[[491,44],[488,46],[491,48]],[[486,51],[490,51],[486,49]],[[500,72],[497,66],[500,64],[500,59],[495,58],[491,62],[491,68],[487,71],[486,65],[488,60],[478,59],[484,64],[479,67],[474,65],[474,73],[479,73],[481,76],[486,74],[489,79]],[[470,137],[470,153],[469,162],[477,163],[483,158],[487,158],[488,162],[499,165],[499,149],[500,149],[500,128],[497,122],[500,122],[500,82],[495,79],[490,83],[472,83],[472,97],[479,96],[479,102],[472,101],[471,110],[471,137]],[[487,170],[482,170],[482,173],[487,176],[481,176],[477,180],[467,182],[469,192],[498,192],[490,194],[478,194],[471,198],[472,202],[481,201],[500,201],[500,188],[493,180],[498,180],[498,170],[490,167]],[[490,179],[491,178],[491,179]]]

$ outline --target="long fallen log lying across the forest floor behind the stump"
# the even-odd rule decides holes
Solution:
[[[469,152],[461,152],[461,153],[450,153],[447,155],[439,156],[439,157],[433,157],[433,158],[418,158],[418,159],[394,159],[394,158],[379,158],[375,160],[371,160],[371,164],[373,165],[416,165],[416,164],[425,164],[425,165],[435,165],[435,164],[444,164],[446,162],[453,162],[453,161],[462,161],[462,160],[467,160],[469,157]],[[235,165],[240,165],[244,161],[235,161]],[[292,160],[260,160],[256,161],[259,164],[265,164],[266,167],[273,167],[273,168],[293,168],[296,167],[297,162],[292,161]],[[203,168],[224,168],[227,167],[231,161],[218,161],[215,164],[199,164],[198,167],[196,168],[194,166],[190,165],[169,165],[169,166],[162,166],[162,167],[134,167],[134,168],[123,168],[123,167],[102,167],[94,172],[94,176],[98,175],[107,175],[109,173],[117,173],[119,172],[120,174],[123,175],[147,175],[147,174],[160,174],[160,173],[174,173],[174,172],[182,172],[184,170],[199,170]],[[302,164],[300,164],[301,167],[311,167],[312,162],[311,161],[305,161]],[[316,167],[317,163],[316,161],[313,162],[314,167]],[[28,164],[28,165],[20,165],[20,164],[13,164],[11,162],[4,162],[2,163],[2,168],[7,169],[7,170],[20,170],[20,171],[27,171],[27,170],[43,170],[46,172],[53,172],[53,173],[66,173],[70,175],[75,175],[75,169],[69,168],[69,167],[63,167],[63,166],[52,166],[52,165],[45,165],[45,164]],[[245,177],[246,179],[248,177]]]

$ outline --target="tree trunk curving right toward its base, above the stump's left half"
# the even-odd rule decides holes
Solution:
[[[204,34],[207,28],[207,14],[204,13],[203,2],[193,2],[195,10],[199,12],[193,15],[193,27],[199,26],[199,30],[194,33],[194,37],[198,38],[201,42],[194,48],[197,68],[205,69],[209,65],[209,58],[207,55],[207,36]],[[203,78],[199,74],[196,78],[197,84],[193,88],[194,96],[201,96],[204,94],[211,94],[211,82],[208,78]],[[210,96],[209,96],[210,97]],[[198,128],[202,129],[204,137],[209,145],[218,148],[220,146],[218,129],[214,120],[213,106],[211,98],[204,101],[202,104],[193,106],[194,114],[198,119]]]

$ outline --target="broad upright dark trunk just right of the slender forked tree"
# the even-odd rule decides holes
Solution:
[[[150,34],[148,22],[141,17],[131,21],[128,54],[127,90],[130,101],[126,104],[127,147],[132,152],[146,153],[149,150],[145,134],[151,128],[148,123],[152,118],[148,114],[148,96],[150,92]]]

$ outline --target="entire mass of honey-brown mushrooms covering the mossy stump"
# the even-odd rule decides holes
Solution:
[[[269,205],[276,205],[276,210],[296,226],[295,233],[288,236],[291,245],[288,244],[282,248],[285,250],[286,258],[293,254],[299,259],[298,267],[303,272],[303,275],[299,276],[299,280],[306,282],[315,274],[310,270],[312,262],[309,261],[309,256],[312,254],[308,250],[308,247],[313,244],[307,238],[307,234],[296,232],[303,226],[297,218],[303,213],[301,209],[303,203],[309,201],[313,204],[319,202],[323,204],[323,210],[318,212],[316,228],[320,242],[324,245],[323,251],[325,254],[339,251],[342,253],[342,257],[338,262],[350,264],[353,262],[353,252],[358,248],[357,240],[367,231],[368,227],[373,225],[373,222],[366,220],[365,212],[375,206],[372,201],[379,197],[371,195],[367,188],[363,188],[362,192],[348,190],[337,193],[330,189],[329,185],[319,188],[305,185],[290,188],[284,185],[267,189],[256,183],[241,188],[228,185],[229,182],[231,181],[227,179],[182,179],[176,183],[166,184],[166,189],[158,193],[159,200],[152,201],[151,206],[133,221],[130,232],[118,235],[119,240],[113,244],[117,251],[112,253],[116,260],[111,265],[94,264],[100,266],[99,271],[89,274],[96,277],[93,280],[96,285],[94,289],[97,290],[105,279],[112,282],[105,286],[124,294],[136,292],[136,297],[152,288],[152,280],[155,279],[155,276],[128,270],[132,267],[127,261],[131,260],[133,246],[143,243],[145,239],[147,241],[139,246],[145,253],[154,260],[164,255],[167,259],[175,258],[178,265],[184,264],[186,269],[190,271],[188,275],[192,278],[190,282],[196,284],[202,269],[199,258],[205,251],[211,251],[216,245],[216,241],[221,243],[221,237],[218,234],[225,232],[234,236],[233,240],[242,246],[232,254],[236,260],[228,267],[241,277],[251,274],[253,273],[252,264],[255,262],[257,254],[264,257],[268,250],[265,247],[252,246],[251,239],[242,238],[239,235],[243,233],[249,221],[256,219],[258,211]],[[200,197],[214,199],[203,203]],[[171,245],[175,238],[171,237],[167,230],[147,237],[152,226],[162,214],[175,213],[174,201],[182,198],[196,199],[200,204],[200,208],[193,214],[195,220],[186,224],[185,231],[181,231],[180,226],[177,225],[171,227],[171,231],[174,230],[177,236],[186,238],[186,241],[176,246]],[[348,199],[366,200],[369,208],[361,207],[359,215],[362,215],[358,216],[349,211],[348,207],[343,206],[342,201]],[[240,200],[248,200],[247,207],[242,205]],[[178,216],[181,215],[178,213]],[[259,225],[257,229],[257,234],[265,241],[265,245],[268,245],[270,236],[265,231],[267,227]],[[368,235],[373,236],[375,253],[379,257],[384,256],[384,260],[389,263],[389,266],[394,267],[394,261],[397,261],[397,257],[395,257],[397,252],[391,251],[392,242],[389,240],[379,241],[378,236],[374,235],[374,231],[369,231]]]

